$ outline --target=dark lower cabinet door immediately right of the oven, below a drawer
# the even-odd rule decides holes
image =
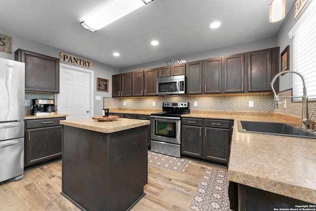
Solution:
[[[182,126],[181,153],[202,158],[202,127]]]

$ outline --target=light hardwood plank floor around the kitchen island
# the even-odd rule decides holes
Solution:
[[[184,173],[148,164],[146,195],[131,210],[192,211],[191,201],[207,167],[226,170],[197,161]],[[60,194],[61,168],[62,162],[57,161],[0,185],[0,211],[79,211]]]

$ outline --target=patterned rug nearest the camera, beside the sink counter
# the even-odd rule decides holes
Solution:
[[[227,173],[207,168],[190,208],[195,211],[230,211],[229,207]]]

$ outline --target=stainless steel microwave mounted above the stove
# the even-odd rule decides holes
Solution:
[[[185,94],[186,76],[157,78],[157,94]]]

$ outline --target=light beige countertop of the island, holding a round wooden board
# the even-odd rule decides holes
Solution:
[[[150,125],[148,120],[118,118],[111,122],[98,122],[92,119],[62,120],[61,125],[78,127],[103,133],[118,132],[125,129]]]

